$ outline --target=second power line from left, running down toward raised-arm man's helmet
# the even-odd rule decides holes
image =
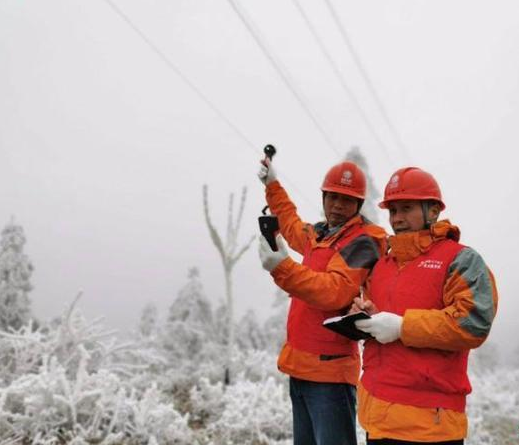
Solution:
[[[316,116],[316,114],[310,109],[310,106],[308,105],[308,101],[305,98],[304,94],[298,90],[298,88],[295,86],[295,83],[290,78],[290,75],[288,74],[288,71],[286,68],[283,67],[283,64],[281,61],[273,54],[272,50],[269,49],[267,43],[265,43],[265,39],[263,38],[260,30],[258,27],[254,24],[253,20],[247,16],[245,11],[241,9],[238,4],[234,0],[228,0],[233,10],[236,12],[240,20],[243,22],[249,33],[254,38],[255,42],[260,47],[261,51],[265,55],[265,57],[269,60],[271,65],[274,67],[276,72],[279,74],[281,79],[283,80],[284,84],[287,86],[287,88],[290,90],[290,92],[294,95],[296,100],[299,102],[299,105],[303,108],[303,110],[306,112],[312,123],[315,125],[321,136],[326,141],[329,148],[331,148],[335,154],[338,156],[342,156],[342,154],[335,148],[332,140],[324,130],[323,126],[319,123],[319,120]]]

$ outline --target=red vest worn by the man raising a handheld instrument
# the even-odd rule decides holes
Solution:
[[[362,226],[353,226],[328,247],[312,247],[308,242],[303,255],[303,265],[316,272],[324,272],[334,253],[366,232]],[[296,295],[291,295],[287,320],[287,343],[300,351],[317,355],[353,355],[358,353],[357,342],[323,328],[323,321],[344,315],[345,309],[323,311],[310,306]]]

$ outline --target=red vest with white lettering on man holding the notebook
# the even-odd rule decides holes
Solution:
[[[371,297],[380,311],[404,315],[406,309],[445,307],[443,285],[450,264],[464,246],[441,240],[400,271],[394,258],[378,261],[371,278]],[[388,402],[463,412],[471,391],[467,351],[406,347],[401,341],[366,341],[364,387]]]

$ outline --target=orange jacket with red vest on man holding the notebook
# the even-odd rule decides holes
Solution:
[[[460,399],[470,391],[464,356],[487,338],[498,294],[481,256],[458,244],[459,238],[459,229],[447,220],[429,230],[392,236],[388,256],[374,269],[381,266],[384,274],[372,274],[366,283],[366,299],[373,299],[374,291],[379,309],[403,314],[400,340],[384,345],[365,342],[367,368],[359,385],[358,416],[370,439],[442,442],[466,437],[467,416],[460,410],[464,406]],[[377,284],[377,275],[387,289]],[[427,296],[432,298],[429,306]],[[384,375],[386,370],[392,378]],[[375,376],[381,379],[378,388]],[[370,389],[363,384],[366,377],[371,379]],[[415,384],[424,390],[421,396],[413,391]],[[405,403],[394,401],[403,399]],[[456,409],[442,408],[446,403]]]

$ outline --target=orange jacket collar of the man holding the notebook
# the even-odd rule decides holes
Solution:
[[[401,233],[389,237],[390,252],[398,264],[407,263],[416,257],[429,251],[431,246],[438,241],[460,239],[460,230],[452,225],[449,220],[438,221],[429,230]]]

